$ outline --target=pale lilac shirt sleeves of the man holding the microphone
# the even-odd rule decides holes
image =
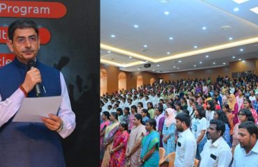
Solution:
[[[75,129],[75,113],[73,113],[72,108],[70,106],[70,99],[68,95],[68,91],[66,88],[66,81],[63,79],[63,74],[60,72],[60,81],[61,81],[61,96],[63,100],[61,102],[61,106],[59,108],[58,116],[63,121],[63,129],[59,132],[62,138],[66,138],[69,136],[73,130]],[[12,118],[15,113],[22,106],[22,101],[25,96],[22,90],[18,88],[13,95],[8,97],[5,101],[2,101],[0,95],[0,127],[8,122],[10,118]]]

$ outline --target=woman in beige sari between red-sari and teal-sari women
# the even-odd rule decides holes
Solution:
[[[130,133],[128,145],[126,148],[126,162],[127,167],[139,167],[141,163],[139,162],[139,156],[142,151],[142,138],[146,135],[145,126],[142,125],[141,114],[135,114],[133,118],[133,124],[135,125]]]

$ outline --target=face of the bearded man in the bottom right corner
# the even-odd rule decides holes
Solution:
[[[250,136],[247,129],[238,129],[238,140],[241,148],[250,148],[252,145],[252,136]]]

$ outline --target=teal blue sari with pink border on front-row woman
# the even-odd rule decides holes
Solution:
[[[151,154],[151,157],[147,159],[142,167],[158,167],[158,162],[160,161],[160,155],[158,152],[158,148],[160,146],[160,135],[158,132],[153,130],[147,136],[144,136],[142,139],[142,152],[141,152],[141,159],[153,148],[155,145],[155,152]]]

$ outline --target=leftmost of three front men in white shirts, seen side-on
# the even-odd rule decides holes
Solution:
[[[195,164],[197,143],[190,131],[190,122],[190,116],[186,113],[179,113],[176,116],[176,129],[181,133],[176,143],[175,167],[192,167]]]

